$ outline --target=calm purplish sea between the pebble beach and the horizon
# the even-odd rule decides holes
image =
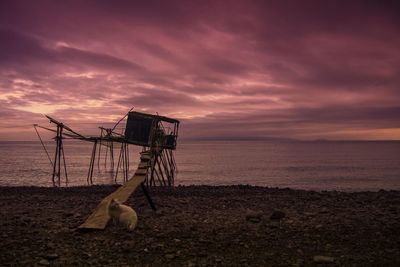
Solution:
[[[52,156],[54,144],[46,146]],[[86,184],[91,149],[84,142],[65,143],[69,185]],[[131,174],[139,150],[130,147]],[[177,184],[400,190],[400,142],[187,141],[179,143],[175,155]],[[96,164],[94,182],[112,183],[113,173],[104,168],[103,158],[100,167]],[[0,143],[0,185],[51,186],[51,171],[39,142]]]

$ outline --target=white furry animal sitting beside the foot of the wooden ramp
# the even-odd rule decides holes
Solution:
[[[114,225],[123,225],[129,231],[132,231],[136,227],[136,212],[131,207],[119,203],[116,199],[111,199],[108,206],[108,215],[111,217]]]

